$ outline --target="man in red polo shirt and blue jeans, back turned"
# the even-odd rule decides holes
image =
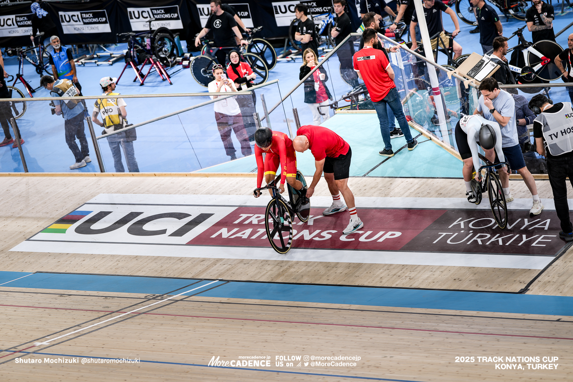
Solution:
[[[402,110],[400,96],[398,95],[396,84],[394,84],[394,70],[382,50],[372,48],[374,44],[378,43],[376,31],[371,28],[364,29],[362,37],[364,39],[364,48],[354,53],[354,70],[366,84],[366,89],[368,89],[368,94],[370,94],[370,99],[374,104],[378,120],[380,121],[380,132],[384,140],[384,149],[379,154],[382,156],[394,156],[392,144],[390,143],[386,105],[390,107],[398,120],[400,129],[406,137],[408,149],[412,151],[418,145],[418,141],[412,137],[406,116]]]

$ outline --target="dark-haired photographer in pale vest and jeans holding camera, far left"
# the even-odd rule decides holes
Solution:
[[[70,170],[87,166],[86,163],[92,162],[92,160],[89,159],[88,140],[85,137],[84,131],[84,105],[78,100],[65,100],[65,97],[79,96],[79,90],[74,86],[72,81],[66,80],[65,78],[54,81],[52,76],[43,76],[40,78],[40,85],[50,90],[50,96],[64,97],[61,101],[53,101],[55,109],[53,109],[52,113],[64,115],[66,143],[70,150],[72,150],[73,156],[76,157],[76,163],[70,166]],[[76,137],[80,141],[81,151],[77,147]]]

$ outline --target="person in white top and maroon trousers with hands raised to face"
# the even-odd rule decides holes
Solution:
[[[223,66],[213,66],[213,76],[215,80],[209,82],[209,93],[229,93],[236,92],[237,88],[233,81],[229,80],[223,73]],[[249,136],[246,132],[245,125],[243,124],[243,117],[241,115],[241,108],[235,100],[235,96],[210,96],[211,100],[218,97],[223,97],[221,101],[217,101],[213,105],[215,110],[215,121],[217,121],[217,128],[225,146],[225,152],[231,157],[231,160],[237,159],[235,152],[237,151],[233,146],[231,140],[231,129],[235,132],[237,140],[241,143],[241,153],[244,156],[251,155],[253,150],[249,144]],[[250,97],[245,94],[240,97]]]

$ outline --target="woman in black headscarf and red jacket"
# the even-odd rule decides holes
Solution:
[[[229,52],[229,66],[227,66],[227,77],[235,83],[237,90],[247,90],[253,86],[253,80],[257,78],[257,74],[253,73],[253,69],[247,62],[241,62],[241,56],[237,50],[233,49]],[[255,112],[256,96],[253,95],[237,97],[237,103],[241,108],[241,115],[243,116],[243,124],[247,134],[249,135],[249,142],[254,144],[254,132],[257,130],[254,124],[253,113]]]

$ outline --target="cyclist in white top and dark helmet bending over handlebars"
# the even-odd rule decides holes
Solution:
[[[496,122],[486,120],[480,115],[466,115],[463,116],[456,125],[456,143],[458,145],[458,152],[464,161],[464,168],[462,174],[464,175],[464,182],[466,185],[466,196],[468,202],[475,203],[476,195],[472,191],[472,175],[473,169],[476,171],[476,178],[478,177],[477,170],[480,168],[480,159],[478,157],[478,141],[480,140],[480,130],[482,127],[489,130],[485,125],[489,125],[495,132],[496,140],[494,149],[499,157],[500,162],[505,162],[503,150],[501,149],[501,129],[500,125]],[[483,147],[484,150],[491,149],[490,147]],[[507,167],[504,165],[505,169]]]

